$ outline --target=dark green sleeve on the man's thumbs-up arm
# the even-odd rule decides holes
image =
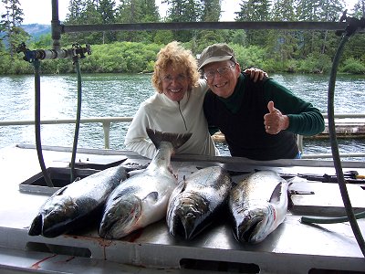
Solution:
[[[273,100],[276,109],[289,118],[288,132],[310,136],[325,130],[323,116],[312,103],[298,98],[274,80],[268,80],[265,89],[266,100]]]

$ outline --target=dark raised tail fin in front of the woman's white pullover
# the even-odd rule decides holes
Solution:
[[[147,134],[151,141],[158,149],[161,142],[171,142],[174,150],[181,147],[185,142],[187,142],[193,133],[172,133],[172,132],[159,132],[156,130],[151,130],[146,128]]]

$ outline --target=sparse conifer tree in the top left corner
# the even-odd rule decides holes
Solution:
[[[29,34],[21,27],[23,10],[18,0],[2,0],[5,5],[5,14],[1,15],[1,31],[5,32],[5,39],[9,45],[10,57],[16,53],[16,47],[29,39]]]

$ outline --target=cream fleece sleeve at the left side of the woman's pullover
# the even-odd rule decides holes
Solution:
[[[152,128],[151,122],[147,114],[146,105],[142,103],[130,122],[124,142],[128,150],[150,159],[156,153],[156,148],[146,132],[147,127]]]

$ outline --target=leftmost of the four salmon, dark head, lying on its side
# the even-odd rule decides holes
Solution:
[[[127,176],[126,168],[119,165],[62,187],[41,206],[28,235],[57,237],[90,219],[98,222],[110,193]]]

